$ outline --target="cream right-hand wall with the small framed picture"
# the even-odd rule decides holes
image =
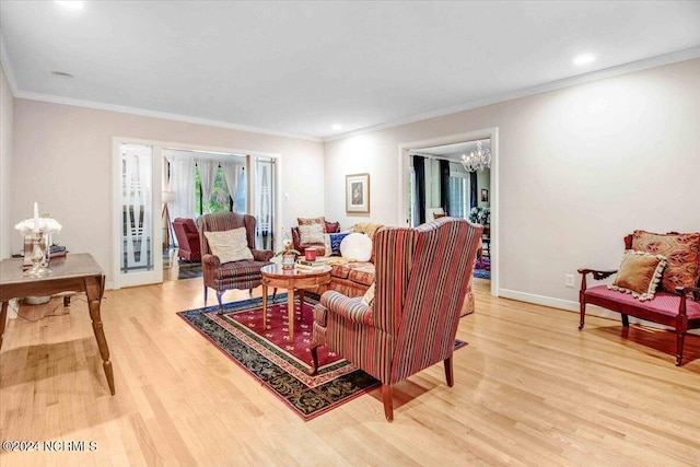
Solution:
[[[369,172],[364,218],[396,224],[400,144],[498,128],[498,293],[575,310],[564,275],[617,268],[625,234],[700,231],[698,83],[693,59],[327,142],[326,217],[363,220],[345,175]]]

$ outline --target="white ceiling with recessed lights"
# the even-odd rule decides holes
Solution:
[[[2,0],[0,33],[20,97],[332,139],[698,57],[700,1]]]

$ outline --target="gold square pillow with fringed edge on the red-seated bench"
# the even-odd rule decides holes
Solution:
[[[666,258],[662,255],[628,249],[622,256],[617,277],[608,289],[631,293],[640,301],[652,300],[665,267]]]

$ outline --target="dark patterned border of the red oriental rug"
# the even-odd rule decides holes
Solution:
[[[284,299],[282,299],[281,301],[278,299],[278,303],[282,303],[282,302],[287,303]],[[254,306],[261,306],[261,304],[262,304],[261,297],[224,303],[224,316],[225,314],[246,311]],[[236,332],[237,335],[232,334],[231,328],[235,328],[235,326],[232,326],[229,323],[231,318],[226,318],[228,320],[223,320],[221,316],[217,315],[218,310],[219,310],[218,305],[212,305],[212,306],[206,306],[201,308],[186,310],[183,312],[178,312],[177,315],[185,323],[187,323],[192,329],[195,329],[199,335],[201,335],[205,339],[211,342],[217,349],[219,349],[219,351],[221,351],[224,355],[229,357],[229,359],[231,359],[243,371],[245,371],[250,376],[253,376],[253,378],[258,384],[262,385],[266,389],[272,393],[278,399],[280,399],[285,406],[291,408],[292,411],[296,413],[304,421],[312,420],[318,416],[322,416],[323,413],[330,411],[331,409],[335,409],[336,407],[340,407],[341,405],[349,402],[350,400],[353,400],[357,397],[360,397],[363,394],[369,393],[370,390],[381,385],[381,383],[377,380],[368,375],[362,370],[359,370],[352,366],[349,362],[345,360],[341,360],[339,362],[334,362],[329,365],[320,367],[318,370],[317,376],[310,376],[308,374],[306,374],[305,372],[299,369],[298,369],[298,372],[295,372],[295,374],[292,374],[292,372],[289,371],[288,365],[280,366],[275,361],[270,360],[267,355],[260,353],[258,349],[252,347],[248,342],[241,339],[240,336],[242,335],[242,332],[240,331],[240,329],[236,329],[238,331]],[[211,315],[213,315],[215,319],[212,319]],[[264,376],[256,374],[252,369],[246,366],[234,354],[232,354],[232,351],[233,351],[232,349],[225,348],[221,342],[217,341],[214,338],[208,335],[201,327],[199,327],[195,322],[190,319],[190,317],[196,317],[196,316],[206,317],[206,319],[208,319],[210,323],[215,324],[219,328],[224,330],[229,336],[231,336],[232,339],[235,339],[238,342],[238,345],[244,346],[247,349],[250,349],[250,351],[255,352],[260,358],[269,361],[273,365],[273,370],[277,369],[280,372],[285,373],[289,377],[293,378],[298,383],[301,383],[304,387],[293,392],[292,394],[288,394],[287,396],[284,394],[281,394],[280,390],[278,390],[276,387],[273,387],[272,384],[270,384],[270,378],[265,378]],[[229,326],[224,327],[222,326],[222,323]],[[243,328],[243,325],[238,325],[238,326]],[[258,338],[264,339],[259,336]],[[249,339],[246,339],[246,340],[249,340]],[[268,349],[268,352],[271,352],[271,351]],[[336,369],[336,366],[339,366],[340,364],[342,364],[342,366],[348,370],[342,372]],[[335,377],[332,376],[334,374],[335,374]],[[296,375],[299,375],[300,377],[298,377]],[[307,384],[310,380],[313,384],[314,378],[318,380],[316,384],[314,384],[313,386]],[[294,381],[292,381],[291,383],[293,384]],[[332,387],[334,383],[337,383],[337,385],[345,386],[345,387],[347,387],[347,385],[349,384],[355,387],[352,389],[353,392],[351,394],[340,394],[339,395],[340,397],[338,397],[338,394],[337,394],[338,390],[337,389],[334,390],[334,387]],[[358,383],[359,383],[359,386],[358,386]],[[324,393],[324,389],[326,389],[325,393]],[[306,410],[302,410],[294,402],[302,405],[303,407],[306,408]]]

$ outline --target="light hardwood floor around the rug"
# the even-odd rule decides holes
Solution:
[[[442,365],[400,383],[393,423],[380,389],[299,419],[175,314],[201,306],[201,279],[107,291],[115,396],[84,299],[22,306],[59,316],[8,324],[0,437],[40,447],[0,465],[700,465],[700,337],[676,367],[669,332],[595,317],[579,331],[575,314],[475,289],[455,386]]]

